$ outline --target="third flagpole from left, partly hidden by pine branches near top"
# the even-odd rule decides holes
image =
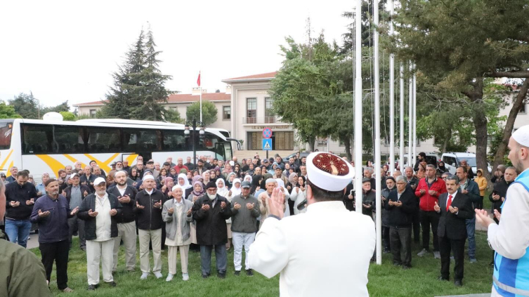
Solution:
[[[393,0],[389,0],[389,35],[393,35]],[[389,173],[395,171],[395,55],[389,54]]]

